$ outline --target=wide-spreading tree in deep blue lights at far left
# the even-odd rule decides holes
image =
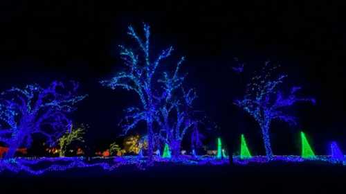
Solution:
[[[78,83],[52,82],[46,88],[27,85],[13,87],[0,96],[0,142],[8,145],[6,158],[15,156],[17,148],[30,148],[33,134],[44,136],[53,144],[71,125],[67,114],[86,96],[77,95]]]

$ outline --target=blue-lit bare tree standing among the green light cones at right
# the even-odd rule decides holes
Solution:
[[[278,119],[290,125],[295,125],[296,118],[287,114],[285,109],[298,102],[315,103],[313,98],[299,98],[296,96],[301,87],[292,87],[289,94],[284,95],[278,86],[287,76],[275,76],[274,71],[276,69],[277,67],[266,62],[262,72],[254,76],[247,85],[244,98],[235,101],[235,105],[242,107],[260,125],[268,159],[273,158],[269,133],[271,121]]]

